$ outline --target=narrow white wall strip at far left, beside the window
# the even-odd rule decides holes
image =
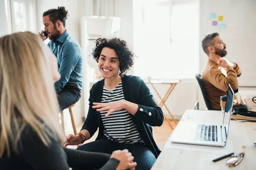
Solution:
[[[5,0],[0,0],[0,21],[1,21],[0,37],[2,37],[8,34]]]

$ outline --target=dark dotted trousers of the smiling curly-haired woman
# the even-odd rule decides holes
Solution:
[[[108,139],[96,140],[87,144],[83,144],[77,148],[89,152],[100,152],[112,154],[115,150],[128,149],[134,156],[134,162],[137,162],[136,170],[150,170],[156,161],[156,157],[148,147],[143,143],[124,144],[110,141]],[[74,169],[79,170],[79,169]]]

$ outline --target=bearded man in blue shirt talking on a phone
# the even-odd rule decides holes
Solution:
[[[55,91],[61,110],[76,103],[83,87],[83,56],[78,42],[67,32],[65,25],[67,11],[65,7],[49,9],[43,14],[44,31],[38,33],[42,40],[51,40],[48,46],[58,60],[58,71],[61,79],[57,81]]]

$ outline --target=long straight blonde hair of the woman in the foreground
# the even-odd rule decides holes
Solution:
[[[18,153],[29,125],[46,146],[64,142],[52,80],[50,50],[38,35],[19,32],[0,38],[0,158]]]

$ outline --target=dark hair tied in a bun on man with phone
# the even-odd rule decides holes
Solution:
[[[58,6],[58,9],[49,9],[48,11],[45,11],[43,17],[47,15],[49,15],[49,20],[52,21],[53,24],[60,20],[61,23],[63,23],[63,26],[66,26],[67,11],[64,6]]]

